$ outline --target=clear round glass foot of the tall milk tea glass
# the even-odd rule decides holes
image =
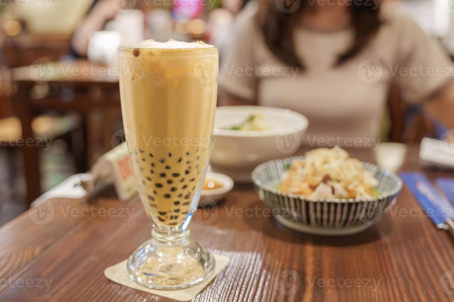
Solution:
[[[214,258],[189,230],[178,235],[160,234],[145,241],[129,256],[129,276],[153,289],[181,289],[207,280],[214,269]]]

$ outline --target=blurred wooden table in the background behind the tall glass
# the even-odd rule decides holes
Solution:
[[[31,122],[40,111],[77,112],[84,121],[85,141],[80,143],[85,146],[82,154],[88,154],[85,168],[89,168],[96,158],[112,149],[110,138],[116,131],[112,130],[115,128],[114,121],[121,119],[116,70],[87,60],[50,62],[43,59],[39,62],[41,64],[11,70],[11,79],[17,91],[12,96],[12,104],[21,121],[22,135],[24,139],[36,139]],[[31,91],[37,86],[40,87],[38,90],[49,89],[50,93],[33,97]],[[62,89],[72,93],[62,97],[58,92]],[[102,151],[96,153],[98,144],[102,146]],[[31,203],[41,195],[35,144],[23,147],[23,158],[27,200]]]

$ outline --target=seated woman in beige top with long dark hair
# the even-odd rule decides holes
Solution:
[[[240,15],[220,68],[221,105],[301,112],[309,138],[376,138],[392,84],[454,128],[452,62],[379,0],[265,0]]]

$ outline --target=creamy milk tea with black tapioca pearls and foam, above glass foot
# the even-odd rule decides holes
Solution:
[[[178,226],[194,206],[212,135],[217,49],[153,40],[119,49],[123,126],[148,216]]]

